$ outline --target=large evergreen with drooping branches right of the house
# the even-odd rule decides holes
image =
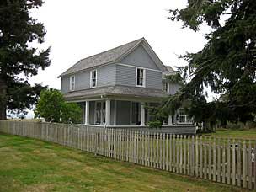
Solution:
[[[189,0],[183,9],[170,10],[173,21],[200,30],[211,27],[205,35],[208,42],[197,53],[183,58],[186,82],[168,104],[179,107],[189,99],[189,115],[211,125],[221,122],[253,120],[256,114],[256,1],[254,0]],[[221,98],[207,103],[205,87]],[[223,99],[225,98],[225,99]],[[178,103],[178,104],[177,104]]]

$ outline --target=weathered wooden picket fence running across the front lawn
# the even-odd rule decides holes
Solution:
[[[255,141],[22,121],[0,121],[0,131],[173,173],[256,189]]]

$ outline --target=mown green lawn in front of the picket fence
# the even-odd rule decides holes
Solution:
[[[1,134],[0,191],[246,190]]]

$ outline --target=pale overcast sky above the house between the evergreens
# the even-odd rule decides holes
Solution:
[[[145,37],[165,65],[184,66],[177,55],[200,51],[206,28],[195,33],[168,18],[168,9],[186,0],[45,0],[33,17],[45,24],[44,47],[51,45],[51,66],[29,79],[61,88],[57,78],[77,61]],[[29,112],[29,117],[32,113]]]

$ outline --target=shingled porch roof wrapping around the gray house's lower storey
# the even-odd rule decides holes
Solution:
[[[64,98],[67,101],[77,99],[92,99],[101,96],[125,96],[145,99],[163,99],[168,96],[168,93],[163,93],[163,91],[159,89],[115,85],[101,88],[83,89],[80,91],[73,91],[64,94]]]

